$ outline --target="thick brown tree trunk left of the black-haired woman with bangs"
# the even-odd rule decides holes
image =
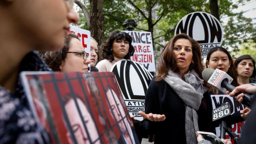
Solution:
[[[90,0],[90,26],[91,37],[94,38],[99,46],[104,40],[104,19],[102,0]],[[101,55],[102,50],[100,50]],[[98,58],[100,59],[100,58]]]

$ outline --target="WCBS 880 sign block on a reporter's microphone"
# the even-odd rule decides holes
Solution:
[[[219,120],[228,115],[230,115],[230,105],[229,103],[223,103],[220,107],[212,110],[212,121]]]

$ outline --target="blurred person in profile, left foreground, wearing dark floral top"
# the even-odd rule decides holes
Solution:
[[[36,124],[19,77],[49,71],[34,50],[58,50],[70,23],[78,22],[74,0],[0,0],[0,143],[50,143]]]

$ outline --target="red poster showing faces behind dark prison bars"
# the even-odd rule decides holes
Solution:
[[[53,144],[138,143],[112,72],[22,72],[38,124]]]

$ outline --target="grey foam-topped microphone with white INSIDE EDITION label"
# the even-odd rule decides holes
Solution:
[[[236,88],[230,84],[233,78],[231,78],[226,72],[223,72],[222,70],[219,70],[217,68],[216,70],[212,68],[204,69],[202,72],[202,76],[206,82],[215,86],[222,92],[225,92],[226,90],[232,92]],[[242,92],[238,92],[235,96],[241,93]],[[242,104],[250,108],[251,103],[252,95],[244,93]]]

